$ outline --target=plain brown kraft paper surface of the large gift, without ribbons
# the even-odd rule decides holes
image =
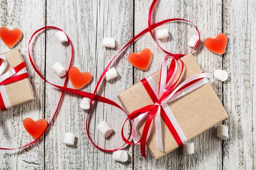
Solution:
[[[203,72],[192,54],[182,57],[181,60],[184,62],[185,71],[178,84],[195,74]],[[181,65],[179,62],[178,72],[180,72],[180,68]],[[159,87],[160,71],[155,72],[151,77]],[[118,95],[118,99],[127,114],[131,114],[133,111],[143,108],[146,105],[154,104],[142,82],[137,82],[125,91],[122,91]],[[167,104],[188,141],[228,117],[221,101],[218,99],[217,94],[209,82]],[[137,132],[140,136],[143,132],[145,121],[146,119],[142,120],[137,127]],[[159,159],[179,147],[162,118],[161,127],[164,152],[157,150],[154,122],[151,134],[147,140],[148,150],[155,159]]]

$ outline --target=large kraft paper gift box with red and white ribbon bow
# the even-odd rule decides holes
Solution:
[[[169,70],[167,59],[172,59]],[[133,121],[134,143],[140,143],[144,157],[143,142],[159,159],[227,118],[211,86],[212,75],[202,73],[192,54],[179,60],[166,56],[161,71],[118,95],[128,119]]]

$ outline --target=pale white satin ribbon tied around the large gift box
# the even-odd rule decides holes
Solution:
[[[172,74],[172,77],[166,83],[167,71],[168,71],[167,60],[169,58],[174,59],[172,56],[166,56],[163,60],[162,66],[161,66],[160,90],[158,89],[157,85],[155,84],[155,82],[154,82],[154,80],[152,79],[151,76],[145,77],[145,79],[148,81],[148,84],[150,85],[151,89],[154,91],[154,94],[157,97],[157,99],[160,99],[161,96],[163,96],[163,94],[165,94],[166,91],[172,86],[172,84],[174,82],[174,79],[176,77],[176,74],[177,74],[178,62],[175,59],[174,72]],[[186,85],[187,83],[192,82],[196,79],[201,79],[201,80],[199,80],[198,82],[195,82],[192,85],[189,85],[188,87],[184,88],[183,90],[177,92],[184,85]],[[182,82],[180,85],[178,85],[177,88],[175,88],[172,91],[172,93],[170,93],[168,96],[166,96],[160,104],[155,103],[155,105],[158,105],[158,110],[157,110],[157,113],[155,115],[155,128],[156,128],[156,136],[157,136],[157,149],[159,151],[164,151],[163,150],[163,142],[162,142],[160,106],[163,107],[164,111],[166,112],[166,115],[168,116],[169,120],[172,122],[172,125],[174,126],[174,128],[175,128],[178,136],[180,137],[182,143],[185,144],[186,142],[188,142],[187,139],[186,139],[186,136],[183,133],[182,129],[180,128],[180,125],[178,124],[177,120],[175,119],[175,116],[173,115],[173,113],[172,113],[171,109],[169,108],[169,106],[167,105],[167,103],[171,102],[175,99],[178,99],[179,97],[184,96],[185,94],[188,94],[189,92],[195,90],[196,88],[201,87],[202,85],[204,85],[208,82],[210,82],[210,83],[213,82],[212,74],[209,74],[209,73],[197,74],[193,77],[190,77],[189,79],[186,79],[184,82]],[[142,113],[142,114],[140,114],[140,116],[137,116],[134,119],[134,124],[133,124],[133,127],[132,127],[132,138],[133,138],[135,143],[137,143],[139,141],[138,136],[137,136],[137,132],[136,132],[137,125],[141,120],[148,117],[148,113],[149,112]],[[152,123],[151,123],[151,126],[152,126]],[[148,130],[147,139],[148,139],[148,136],[151,132],[151,126],[150,126],[150,129]]]

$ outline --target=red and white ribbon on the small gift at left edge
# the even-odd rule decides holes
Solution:
[[[26,71],[25,62],[21,62],[15,68],[10,69],[9,71],[6,71],[5,74],[3,74],[8,65],[8,62],[3,55],[0,55],[0,59],[2,61],[0,65],[0,110],[6,111],[12,108],[12,105],[9,102],[9,98],[7,96],[4,85],[26,79],[29,77],[29,75]]]

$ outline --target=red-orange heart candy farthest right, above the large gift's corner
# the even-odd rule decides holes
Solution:
[[[227,36],[221,33],[215,38],[207,38],[204,40],[204,46],[213,53],[224,54],[227,46]]]

